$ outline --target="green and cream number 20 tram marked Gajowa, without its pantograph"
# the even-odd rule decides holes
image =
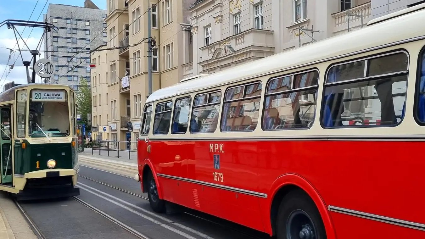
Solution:
[[[75,99],[60,84],[20,84],[0,93],[1,191],[17,200],[79,195]]]

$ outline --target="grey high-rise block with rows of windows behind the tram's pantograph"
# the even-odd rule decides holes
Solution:
[[[43,38],[45,56],[55,65],[51,83],[68,84],[74,90],[81,78],[90,84],[90,50],[106,43],[105,17],[106,10],[91,0],[85,7],[49,4],[44,21],[58,28]]]

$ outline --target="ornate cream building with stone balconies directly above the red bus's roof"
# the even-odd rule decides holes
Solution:
[[[184,78],[358,29],[370,20],[371,2],[196,0],[190,12],[193,62],[184,65]]]

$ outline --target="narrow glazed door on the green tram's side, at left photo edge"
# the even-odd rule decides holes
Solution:
[[[12,124],[11,124],[11,107],[0,107],[0,181],[1,184],[10,184],[12,182]]]

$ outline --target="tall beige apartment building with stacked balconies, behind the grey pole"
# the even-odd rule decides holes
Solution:
[[[185,52],[190,47],[190,11],[187,9],[192,3],[193,0],[107,0],[105,47],[114,49],[92,54],[92,60],[96,58],[96,62],[107,62],[106,68],[102,66],[104,74],[99,76],[99,69],[96,69],[97,82],[102,78],[107,90],[94,85],[92,90],[97,88],[97,97],[99,90],[107,92],[107,98],[100,93],[102,105],[93,105],[96,112],[102,112],[93,113],[93,122],[96,115],[99,124],[99,115],[102,115],[102,120],[107,120],[109,140],[126,141],[130,137],[136,141],[143,105],[148,96],[148,67],[152,67],[153,91],[176,84],[183,78],[181,62],[192,61],[192,52]],[[156,45],[152,51],[152,65],[148,66],[146,38],[147,9],[150,7],[151,35]],[[94,73],[92,82],[93,76]],[[109,112],[106,118],[105,110]],[[127,122],[133,123],[133,132],[127,131]],[[105,139],[105,133],[102,137]],[[125,143],[120,143],[119,147],[125,148]],[[136,144],[131,147],[134,149]]]

